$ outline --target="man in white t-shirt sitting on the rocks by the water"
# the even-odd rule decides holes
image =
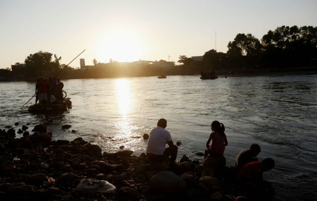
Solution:
[[[171,156],[170,166],[175,164],[178,148],[174,145],[170,132],[165,130],[167,121],[160,119],[157,127],[149,133],[147,141],[146,155],[150,160],[163,161]],[[165,148],[168,144],[169,147]]]

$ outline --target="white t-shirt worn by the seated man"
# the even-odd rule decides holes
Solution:
[[[172,137],[170,132],[168,132],[164,128],[156,127],[152,129],[149,133],[146,153],[163,155],[166,143],[171,140]]]

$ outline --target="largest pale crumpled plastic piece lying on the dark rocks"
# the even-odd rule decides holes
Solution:
[[[82,179],[76,188],[80,191],[88,193],[116,191],[116,186],[114,186],[112,183],[97,179]]]

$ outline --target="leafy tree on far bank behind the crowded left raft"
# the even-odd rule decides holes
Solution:
[[[34,54],[30,54],[25,59],[25,69],[28,76],[34,77],[47,73],[53,73],[54,70],[59,68],[59,60],[61,57],[57,58],[54,55],[55,60],[52,61],[52,53],[39,51]]]

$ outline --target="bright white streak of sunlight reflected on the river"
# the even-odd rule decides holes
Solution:
[[[119,112],[125,116],[131,109],[130,82],[126,79],[116,81],[117,107]]]

